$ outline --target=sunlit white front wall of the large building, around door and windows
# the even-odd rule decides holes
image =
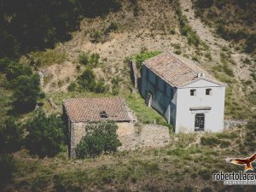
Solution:
[[[206,89],[212,89],[212,95],[206,95]],[[190,90],[196,90],[196,96],[190,96]],[[185,88],[177,89],[177,118],[175,132],[195,131],[195,114],[205,114],[205,131],[224,129],[225,87],[199,80]],[[211,110],[191,111],[189,108],[211,107]]]

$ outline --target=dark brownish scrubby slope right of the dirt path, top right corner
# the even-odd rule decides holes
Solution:
[[[218,35],[234,41],[236,49],[253,53],[256,48],[255,10],[252,0],[194,0],[195,14],[216,29]]]

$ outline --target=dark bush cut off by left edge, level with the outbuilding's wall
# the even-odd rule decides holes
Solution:
[[[0,152],[14,152],[22,144],[22,131],[13,118],[7,119],[0,130]]]

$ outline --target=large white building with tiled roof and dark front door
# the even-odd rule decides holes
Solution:
[[[142,95],[175,132],[224,129],[225,86],[193,61],[169,52],[144,61]]]

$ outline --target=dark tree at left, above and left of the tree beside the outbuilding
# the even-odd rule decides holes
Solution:
[[[14,106],[17,112],[28,112],[35,108],[38,98],[42,96],[38,74],[31,77],[21,75],[16,79]]]

